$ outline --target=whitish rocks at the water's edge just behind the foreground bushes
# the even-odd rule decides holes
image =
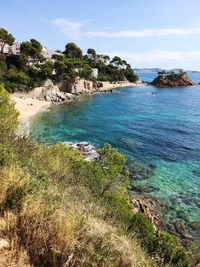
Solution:
[[[100,156],[97,153],[96,147],[88,142],[80,142],[80,143],[64,142],[64,144],[74,149],[78,149],[83,155],[83,158],[87,161],[98,159]]]

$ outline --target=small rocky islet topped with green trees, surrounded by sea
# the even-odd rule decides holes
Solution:
[[[157,87],[184,87],[193,86],[192,80],[187,76],[186,73],[170,73],[167,75],[161,74],[150,83]]]

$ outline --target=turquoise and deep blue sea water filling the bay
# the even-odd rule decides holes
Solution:
[[[200,220],[200,86],[83,96],[38,114],[31,129],[46,143],[111,143],[128,162],[152,167],[149,179],[135,183],[157,188],[151,195],[168,205],[166,220],[176,220],[180,210],[189,222]]]

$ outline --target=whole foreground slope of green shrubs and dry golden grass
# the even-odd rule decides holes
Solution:
[[[105,145],[88,162],[64,144],[16,138],[17,126],[0,86],[0,237],[11,252],[34,266],[190,266],[177,240],[133,212],[116,149]]]

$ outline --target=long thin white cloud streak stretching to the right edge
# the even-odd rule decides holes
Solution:
[[[185,29],[144,29],[128,31],[97,31],[85,32],[85,35],[94,37],[117,37],[117,38],[138,38],[167,35],[189,35],[200,34],[200,27]]]

